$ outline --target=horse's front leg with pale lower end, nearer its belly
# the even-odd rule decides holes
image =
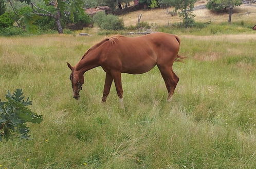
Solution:
[[[120,98],[121,108],[124,109],[121,72],[119,72],[119,71],[112,71],[111,75],[112,75],[112,77],[114,79],[114,82],[115,82],[115,86],[116,86],[116,90],[117,90],[117,95]]]

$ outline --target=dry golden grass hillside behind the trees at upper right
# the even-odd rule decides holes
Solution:
[[[195,20],[197,22],[208,22],[211,20],[214,23],[226,22],[228,20],[228,13],[215,13],[206,8],[199,8],[206,5],[206,3],[197,2],[195,4],[194,14],[196,15]],[[174,8],[169,8],[168,12],[173,11]],[[167,25],[169,20],[170,23],[180,22],[178,16],[171,16],[167,14],[166,9],[155,9],[153,10],[139,10],[129,14],[122,15],[121,18],[124,20],[125,26],[135,25],[138,20],[138,15],[142,14],[141,21],[148,22],[150,24]],[[232,21],[249,21],[251,22],[256,18],[256,4],[253,5],[241,5],[234,8],[232,15]],[[256,23],[255,23],[256,24]]]

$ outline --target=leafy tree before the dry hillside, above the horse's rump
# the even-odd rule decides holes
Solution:
[[[188,28],[192,23],[194,23],[194,17],[192,10],[194,8],[196,0],[164,0],[160,3],[166,6],[173,6],[176,12],[178,12],[179,17],[183,20],[183,25]]]

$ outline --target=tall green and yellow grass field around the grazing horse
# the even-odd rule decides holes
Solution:
[[[6,168],[255,168],[256,37],[180,33],[180,81],[172,102],[157,68],[122,74],[100,102],[104,71],[85,73],[79,101],[70,70],[104,36],[0,37],[0,98],[22,88],[43,115],[32,140],[0,142]],[[198,33],[199,34],[199,33]]]

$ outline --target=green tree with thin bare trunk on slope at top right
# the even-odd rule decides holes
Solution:
[[[242,4],[241,0],[209,0],[206,7],[214,11],[227,11],[229,9],[228,22],[231,22],[231,16],[233,8],[235,6],[240,6]]]

